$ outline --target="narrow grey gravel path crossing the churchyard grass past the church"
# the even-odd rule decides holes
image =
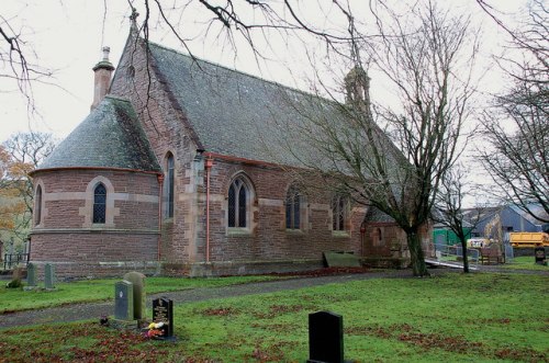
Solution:
[[[482,269],[484,270],[484,269]],[[495,269],[486,269],[490,272]],[[438,275],[448,272],[460,272],[456,269],[433,269],[429,270],[432,275]],[[544,271],[517,271],[505,270],[505,273],[536,273],[549,276],[548,272]],[[330,283],[344,283],[357,280],[368,279],[403,279],[412,277],[411,270],[393,270],[383,272],[368,272],[361,274],[348,275],[330,275],[321,277],[302,277],[290,279],[281,281],[259,282],[243,285],[233,285],[225,287],[201,287],[179,292],[152,294],[147,296],[147,307],[152,306],[152,300],[159,296],[166,296],[173,300],[173,304],[187,304],[193,302],[201,302],[208,299],[244,296],[254,294],[265,294],[287,290],[298,290],[310,286],[320,286]],[[63,322],[63,321],[77,321],[86,319],[99,319],[101,316],[111,316],[114,313],[114,302],[105,303],[87,303],[87,304],[72,304],[64,307],[54,307],[40,310],[27,310],[12,314],[0,315],[0,329],[48,324],[48,322]]]

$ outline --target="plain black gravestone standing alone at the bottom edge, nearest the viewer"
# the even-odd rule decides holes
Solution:
[[[330,311],[309,315],[307,363],[343,363],[343,317]]]

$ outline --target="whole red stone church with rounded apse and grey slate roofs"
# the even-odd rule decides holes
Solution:
[[[304,92],[135,31],[115,71],[108,48],[93,71],[90,114],[32,173],[38,266],[59,276],[250,274],[317,269],[325,251],[406,264],[390,218],[305,193],[289,171],[295,160],[276,140],[288,131],[269,121],[303,117],[287,100]]]

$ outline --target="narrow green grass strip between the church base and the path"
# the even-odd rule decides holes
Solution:
[[[271,276],[234,276],[234,277],[147,277],[147,294],[181,291],[197,287],[220,287],[249,282],[272,280]],[[0,314],[5,311],[29,310],[60,306],[74,303],[90,303],[114,299],[114,283],[120,279],[83,280],[56,283],[55,291],[24,291],[22,288],[4,288],[0,286]]]

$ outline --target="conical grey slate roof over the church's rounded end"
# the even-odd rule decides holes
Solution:
[[[37,170],[113,168],[161,172],[130,101],[107,95]]]

